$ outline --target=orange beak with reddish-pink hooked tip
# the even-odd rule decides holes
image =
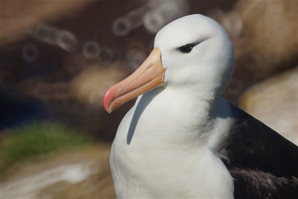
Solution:
[[[159,48],[154,48],[144,63],[128,78],[109,88],[103,96],[103,107],[110,113],[125,102],[161,85],[165,69]]]

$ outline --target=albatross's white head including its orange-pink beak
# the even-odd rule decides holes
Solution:
[[[104,108],[111,112],[159,86],[222,96],[233,60],[232,43],[219,23],[200,14],[184,16],[164,26],[145,62],[107,90]]]

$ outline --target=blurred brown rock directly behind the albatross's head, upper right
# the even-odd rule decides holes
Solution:
[[[237,103],[249,86],[297,66],[297,1],[239,0],[229,12],[213,12],[231,36],[235,67],[224,97]]]

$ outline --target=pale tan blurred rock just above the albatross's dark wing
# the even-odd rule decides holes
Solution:
[[[254,85],[240,98],[240,108],[298,145],[298,68]]]

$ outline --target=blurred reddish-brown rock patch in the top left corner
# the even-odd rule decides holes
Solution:
[[[95,1],[3,1],[1,2],[1,45],[25,37],[25,29],[37,23],[55,23],[83,11]],[[13,40],[13,41],[12,41]],[[4,42],[4,44],[3,44]]]

